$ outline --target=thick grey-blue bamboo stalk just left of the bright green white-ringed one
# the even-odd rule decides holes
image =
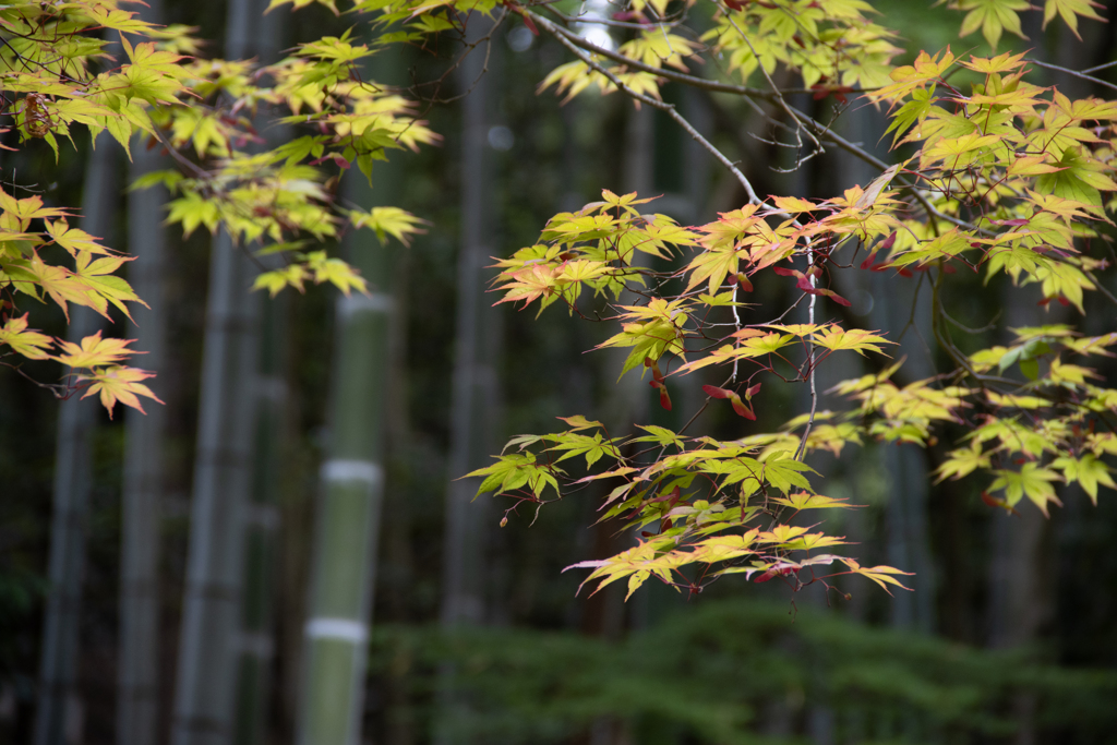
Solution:
[[[226,56],[252,49],[252,0],[232,0]],[[221,230],[213,240],[172,745],[229,745],[233,735],[244,515],[251,485],[260,297],[255,267]]]

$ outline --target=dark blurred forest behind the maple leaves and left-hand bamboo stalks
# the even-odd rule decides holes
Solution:
[[[1113,18],[1109,4],[1102,15]],[[952,44],[958,51],[977,44],[973,37],[960,42],[958,16],[942,8],[900,0],[877,7],[886,26],[900,29],[910,57],[923,48]],[[168,22],[198,26],[202,38],[213,40],[203,54],[225,48],[222,3],[171,0],[164,12]],[[352,23],[321,8],[300,10],[295,18],[276,31],[285,35],[283,44],[256,42],[283,48]],[[262,27],[257,31],[265,32]],[[1028,31],[1031,44],[1009,41],[1069,68],[1115,58],[1113,23],[1087,23],[1082,42],[1066,30]],[[394,77],[397,85],[412,85],[442,75],[458,51],[447,40],[433,54],[384,52],[373,70]],[[585,591],[576,594],[582,575],[563,567],[619,551],[630,539],[612,527],[592,526],[600,494],[584,491],[537,517],[506,513],[510,504],[483,496],[465,517],[446,517],[451,495],[468,499],[476,488],[469,481],[454,487],[452,479],[485,465],[485,453],[498,451],[513,434],[550,431],[555,417],[575,413],[607,422],[637,414],[679,427],[701,398],[700,375],[678,383],[674,412],[660,410],[647,385],[617,384],[617,360],[585,353],[612,333],[607,324],[569,317],[558,307],[538,319],[534,312],[488,307],[496,299],[484,293],[491,273],[477,269],[490,264],[485,257],[534,243],[548,217],[593,201],[602,187],[660,194],[657,211],[691,223],[744,201],[736,182],[666,116],[638,112],[618,95],[583,96],[564,106],[551,92],[536,95],[537,82],[564,60],[556,44],[509,22],[493,39],[483,80],[464,85],[458,75],[441,89],[418,88],[430,98],[470,88],[470,96],[484,101],[472,109],[469,98],[430,101],[423,116],[445,136],[442,144],[393,153],[390,165],[378,164],[372,194],[365,197],[424,218],[427,232],[410,247],[347,241],[331,249],[357,258],[362,251],[379,252],[389,268],[370,279],[376,292],[392,297],[394,308],[385,352],[378,356],[383,367],[376,384],[384,386],[388,401],[385,481],[365,741],[1117,742],[1117,503],[1102,490],[1095,507],[1068,488],[1060,493],[1065,506],[1050,520],[1030,506],[1019,516],[994,510],[982,503],[976,479],[934,483],[937,459],[953,447],[946,437],[926,451],[866,443],[812,462],[822,474],[815,481],[821,493],[865,505],[828,514],[829,528],[857,542],[851,551],[863,563],[915,572],[914,592],[894,596],[867,582],[843,584],[848,596],[827,596],[815,588],[794,593],[781,582],[757,585],[738,579],[723,580],[700,595],[649,584],[628,603],[619,588],[586,596]],[[1111,68],[1096,75],[1117,80]],[[1091,93],[1079,79],[1047,70],[1035,76],[1076,96]],[[741,160],[762,194],[829,197],[876,175],[839,153],[781,173],[776,169],[793,153],[766,142],[771,133],[739,102],[671,85],[663,94]],[[882,116],[867,104],[833,97],[800,103],[821,120],[840,112],[836,126],[849,139],[887,153]],[[106,230],[117,237],[112,245],[142,254],[143,246],[126,239],[127,163],[120,149],[107,150],[117,187],[106,192],[115,199]],[[17,178],[37,183],[49,203],[88,204],[83,189],[93,157],[79,140],[57,168],[45,147],[4,153],[0,168],[6,183]],[[465,225],[464,209],[480,210],[481,223]],[[152,385],[165,401],[153,590],[156,742],[168,742],[180,655],[211,242],[204,231],[188,240],[174,230],[169,236],[157,278],[166,346]],[[475,261],[472,270],[462,269],[468,261]],[[901,337],[907,374],[930,374],[935,352],[925,341],[930,335],[920,322],[908,323],[913,304],[918,311],[926,300],[916,293],[919,278],[862,275],[856,286],[842,288],[853,302],[846,311],[850,319]],[[1104,280],[1117,290],[1114,271]],[[756,294],[765,304],[790,304],[793,298],[779,295],[783,289],[760,285]],[[975,279],[963,290],[947,303],[958,323],[974,329],[996,317],[1021,326],[1056,323],[1060,314],[1075,312],[1032,305],[1038,290],[1034,298],[1024,292],[1025,300],[1011,303],[995,283],[982,286]],[[1100,325],[1113,313],[1095,295],[1087,295],[1087,328],[1091,318]],[[474,299],[464,303],[464,297]],[[335,299],[332,292],[313,288],[305,295],[287,293],[266,311],[275,331],[273,346],[259,359],[270,361],[267,385],[278,385],[281,394],[267,432],[271,460],[260,467],[268,493],[254,513],[252,526],[264,526],[262,548],[248,560],[252,572],[244,591],[245,598],[262,600],[241,611],[255,614],[254,639],[264,639],[259,679],[251,684],[258,691],[255,708],[241,713],[251,725],[238,725],[231,738],[244,745],[294,737],[314,503],[335,434],[328,414],[340,338]],[[468,302],[476,304],[471,328],[461,322]],[[50,313],[44,308],[39,317]],[[51,323],[48,331],[63,333],[60,313]],[[123,322],[108,333],[135,335]],[[994,333],[973,333],[972,348],[996,343]],[[821,389],[868,372],[857,361],[843,364],[822,369]],[[57,469],[66,467],[57,458],[60,409],[74,404],[60,403],[35,382],[57,380],[54,363],[23,372],[0,371],[0,742],[16,745],[32,742],[41,699],[52,505]],[[1098,372],[1113,380],[1117,367],[1108,362]],[[456,389],[456,375],[464,374],[470,376],[470,397]],[[257,380],[245,390],[257,395],[264,385]],[[773,394],[782,399],[766,399],[761,421],[743,426],[709,413],[699,427],[725,439],[779,427],[805,400],[785,388]],[[837,398],[824,401],[824,408],[842,405]],[[113,420],[96,413],[85,436],[90,470],[87,506],[79,515],[84,569],[77,678],[59,709],[69,743],[121,742],[122,490],[130,421],[121,412]],[[505,516],[508,524],[500,527]],[[466,576],[456,585],[446,579],[451,545],[464,552],[456,555],[469,557]],[[466,601],[468,612],[447,623],[448,604]]]

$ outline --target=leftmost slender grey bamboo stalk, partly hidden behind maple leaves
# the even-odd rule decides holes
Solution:
[[[89,156],[82,194],[82,228],[111,243],[108,235],[116,209],[116,157],[107,136]],[[93,311],[70,306],[67,338],[80,342],[101,326]],[[63,745],[80,738],[80,699],[77,694],[78,621],[82,577],[85,571],[85,520],[89,502],[90,434],[96,426],[97,400],[77,395],[58,407],[55,457],[54,516],[50,525],[50,593],[42,631],[39,667],[39,707],[36,745]]]

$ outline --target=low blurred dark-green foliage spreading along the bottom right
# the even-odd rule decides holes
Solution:
[[[403,687],[398,717],[429,722],[437,670],[460,670],[464,704],[439,723],[481,742],[563,743],[595,727],[619,742],[996,742],[1013,701],[1034,697],[1044,742],[1105,742],[1113,671],[1075,670],[1037,650],[985,651],[882,630],[818,609],[713,600],[621,641],[572,632],[378,631],[374,700]]]

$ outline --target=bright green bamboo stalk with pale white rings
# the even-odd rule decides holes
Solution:
[[[399,60],[378,57],[373,77],[390,83]],[[398,75],[402,77],[402,74]],[[384,204],[401,182],[400,156],[378,162],[376,191],[360,174],[346,183],[362,208]],[[366,231],[346,238],[349,260],[369,295],[337,299],[330,443],[316,505],[311,594],[304,629],[299,745],[355,745],[361,739],[364,670],[376,538],[384,489],[384,421],[389,381],[389,314],[393,247]]]

